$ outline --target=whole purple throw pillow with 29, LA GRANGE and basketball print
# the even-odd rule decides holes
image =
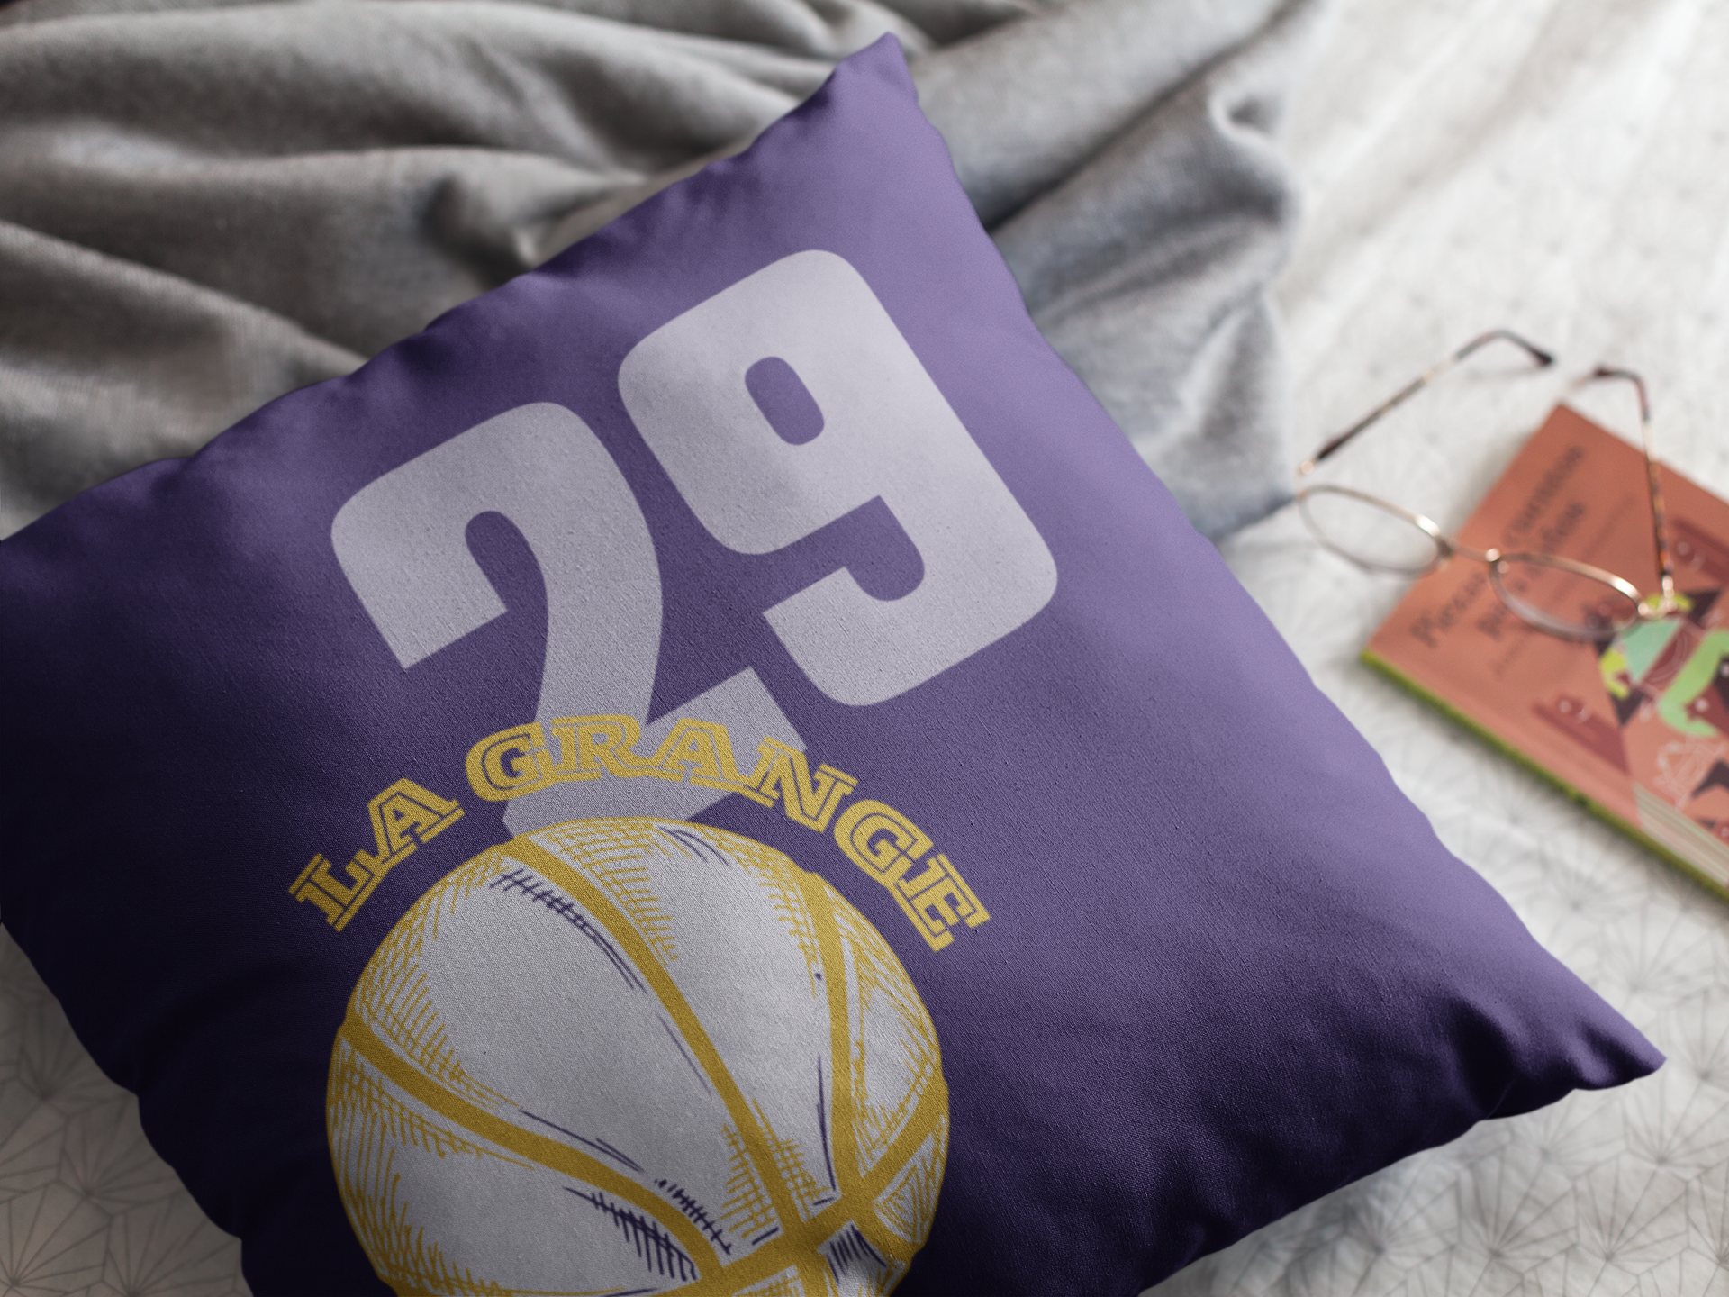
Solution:
[[[1044,344],[892,42],[7,540],[0,692],[0,913],[261,1297],[1132,1294],[1660,1062]]]

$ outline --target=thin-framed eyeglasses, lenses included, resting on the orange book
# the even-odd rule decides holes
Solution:
[[[1511,342],[1537,368],[1547,368],[1554,356],[1527,342],[1508,329],[1494,329],[1473,337],[1421,377],[1381,401],[1364,418],[1328,441],[1314,457],[1297,465],[1297,477],[1307,477],[1323,460],[1338,453],[1390,410],[1404,405],[1461,360],[1490,342]],[[1663,486],[1651,453],[1651,405],[1644,380],[1632,370],[1599,365],[1585,382],[1620,379],[1639,394],[1639,431],[1644,444],[1644,472],[1651,491],[1651,538],[1656,545],[1658,590],[1641,593],[1630,581],[1601,567],[1556,553],[1504,553],[1497,548],[1473,550],[1447,536],[1440,526],[1350,486],[1316,484],[1297,493],[1297,508],[1309,531],[1326,548],[1359,567],[1399,576],[1426,576],[1456,557],[1489,567],[1489,583],[1508,609],[1528,626],[1563,640],[1601,642],[1643,621],[1660,621],[1686,609],[1675,595],[1674,559],[1668,546],[1668,522],[1663,514]]]

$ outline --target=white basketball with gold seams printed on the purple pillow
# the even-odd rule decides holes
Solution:
[[[833,887],[676,820],[446,875],[367,963],[330,1153],[398,1294],[875,1297],[947,1153],[930,1015]]]

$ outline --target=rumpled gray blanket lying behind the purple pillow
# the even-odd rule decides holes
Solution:
[[[1286,496],[1273,142],[1319,0],[19,0],[0,536],[346,374],[892,31],[1032,310],[1209,534]]]

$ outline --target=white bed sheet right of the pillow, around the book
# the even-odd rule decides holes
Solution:
[[[1288,140],[1309,201],[1279,289],[1297,451],[1509,325],[1563,372],[1483,353],[1335,481],[1456,526],[1606,360],[1646,375],[1660,457],[1729,495],[1729,5],[1342,0]],[[1637,436],[1625,386],[1575,405]],[[1668,1064],[1487,1122],[1153,1292],[1729,1294],[1729,903],[1364,669],[1397,581],[1290,508],[1224,553],[1440,837]]]

